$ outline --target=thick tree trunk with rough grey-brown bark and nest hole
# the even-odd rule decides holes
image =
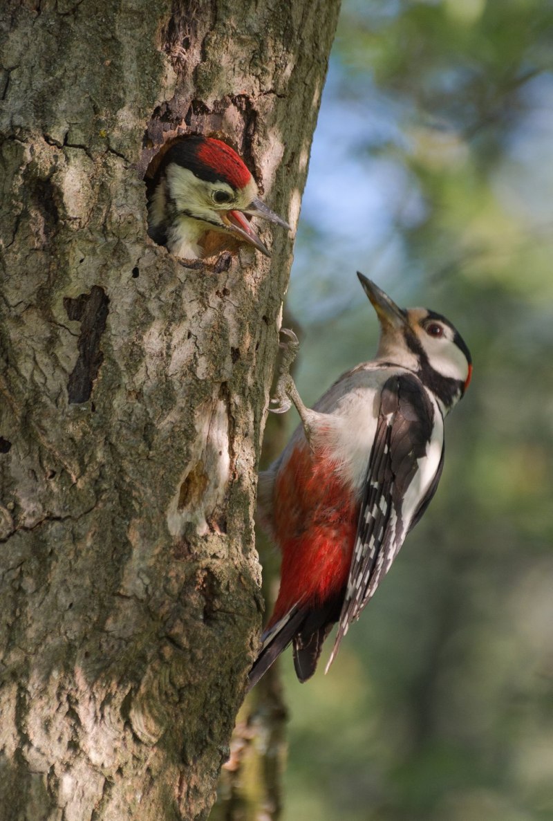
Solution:
[[[253,519],[290,236],[146,236],[164,140],[295,225],[333,0],[21,0],[0,62],[0,819],[204,819],[262,599]]]

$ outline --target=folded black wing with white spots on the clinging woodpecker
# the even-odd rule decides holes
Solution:
[[[420,380],[395,374],[382,388],[350,576],[330,667],[351,621],[390,569],[432,496],[443,466],[443,420]]]

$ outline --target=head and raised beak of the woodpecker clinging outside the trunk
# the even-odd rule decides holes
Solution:
[[[381,328],[377,358],[418,373],[447,412],[464,395],[473,373],[470,351],[449,319],[427,308],[401,309],[358,272]]]

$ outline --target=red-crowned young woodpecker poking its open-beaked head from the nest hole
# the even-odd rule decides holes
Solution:
[[[238,154],[213,137],[195,135],[171,145],[149,188],[149,236],[186,259],[232,249],[236,240],[269,256],[245,214],[290,230],[259,200],[254,177]]]

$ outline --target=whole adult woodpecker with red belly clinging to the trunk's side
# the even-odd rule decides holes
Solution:
[[[358,276],[380,322],[377,357],[343,374],[313,410],[290,377],[297,339],[285,332],[293,341],[273,401],[276,412],[293,402],[301,424],[259,478],[260,519],[282,553],[281,587],[249,686],[290,642],[306,681],[338,621],[330,667],[436,492],[444,417],[470,382],[468,347],[445,317],[401,310]]]

